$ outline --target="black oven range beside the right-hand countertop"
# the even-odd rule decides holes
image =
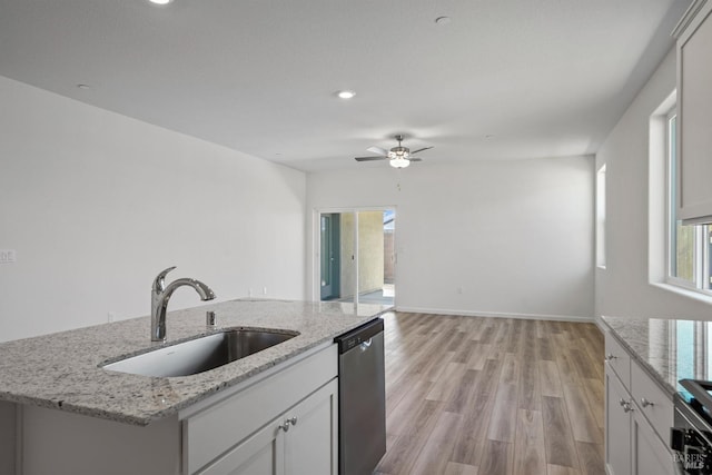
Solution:
[[[670,447],[680,475],[712,475],[712,382],[681,379]]]

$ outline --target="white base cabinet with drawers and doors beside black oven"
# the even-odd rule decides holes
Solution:
[[[612,342],[609,342],[611,339]],[[606,335],[606,348],[622,347]],[[662,439],[672,426],[672,399],[630,355],[605,365],[605,464],[609,475],[670,475],[673,457]],[[616,355],[613,355],[616,356]],[[627,362],[627,367],[621,365]],[[617,373],[616,373],[617,369]],[[624,377],[621,377],[621,374]]]

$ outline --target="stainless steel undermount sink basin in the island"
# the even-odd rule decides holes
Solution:
[[[103,369],[144,376],[190,376],[254,355],[299,335],[290,330],[228,329],[161,347]]]

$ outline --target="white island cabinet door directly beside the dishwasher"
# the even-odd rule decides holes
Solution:
[[[287,474],[337,474],[337,379],[333,379],[285,413],[286,419],[295,420],[285,436]]]

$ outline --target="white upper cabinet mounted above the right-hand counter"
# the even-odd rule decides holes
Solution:
[[[678,217],[712,222],[712,1],[695,1],[678,38]]]

